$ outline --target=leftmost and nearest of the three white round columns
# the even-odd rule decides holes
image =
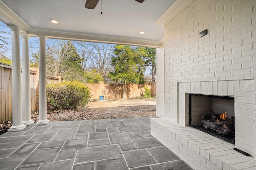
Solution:
[[[20,30],[15,25],[8,25],[12,31],[12,126],[8,131],[20,131],[22,124],[22,95],[20,73]]]

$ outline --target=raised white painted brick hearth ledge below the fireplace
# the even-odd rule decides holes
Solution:
[[[196,170],[256,169],[253,156],[235,151],[235,146],[226,141],[166,118],[153,118],[150,123],[151,135]]]

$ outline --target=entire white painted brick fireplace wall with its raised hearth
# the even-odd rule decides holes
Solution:
[[[256,169],[255,21],[253,0],[185,0],[157,22],[165,37],[157,49],[160,118],[151,119],[151,133],[196,170]],[[199,37],[205,29],[208,34]],[[235,117],[235,143],[189,126],[202,116],[189,120],[190,94],[234,99],[224,105]]]

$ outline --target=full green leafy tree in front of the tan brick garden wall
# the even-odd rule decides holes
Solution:
[[[127,84],[140,82],[142,73],[144,75],[142,55],[145,55],[145,51],[134,47],[125,45],[114,47],[114,55],[112,55],[114,71],[110,72],[108,77],[124,84],[123,98],[125,98]]]

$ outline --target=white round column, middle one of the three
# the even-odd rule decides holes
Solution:
[[[29,49],[28,34],[21,32],[22,39],[22,123],[31,125],[34,121],[31,119],[30,104],[30,72],[29,72]]]

